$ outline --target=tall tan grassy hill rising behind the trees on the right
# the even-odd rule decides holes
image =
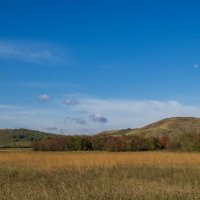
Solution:
[[[141,135],[150,136],[173,136],[183,131],[200,131],[200,118],[194,117],[172,117],[160,120],[137,129],[122,129],[115,131],[105,131],[97,135]]]

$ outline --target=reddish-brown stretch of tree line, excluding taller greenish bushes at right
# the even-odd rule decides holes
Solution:
[[[33,141],[35,151],[148,151],[166,148],[168,137],[58,136]]]

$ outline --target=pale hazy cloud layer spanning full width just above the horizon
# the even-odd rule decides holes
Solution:
[[[48,95],[41,95],[49,99]],[[78,98],[78,97],[77,97]],[[137,128],[173,116],[200,117],[200,106],[178,101],[135,101],[79,96],[80,104],[65,106],[60,100],[45,108],[8,107],[1,110],[0,127],[28,127],[67,134],[89,134],[109,129]],[[91,118],[92,116],[92,118]],[[106,123],[94,123],[100,120]],[[99,122],[99,121],[98,121]]]

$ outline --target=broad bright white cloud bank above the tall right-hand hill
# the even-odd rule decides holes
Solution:
[[[200,106],[185,105],[178,101],[113,100],[85,96],[80,99],[81,103],[73,107],[74,112],[80,111],[89,116],[88,127],[94,132],[102,129],[141,127],[173,116],[200,117]]]

